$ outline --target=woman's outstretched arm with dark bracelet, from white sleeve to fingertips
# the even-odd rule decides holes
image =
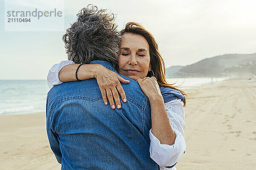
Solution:
[[[68,63],[71,61],[62,61],[59,64],[55,64],[52,66],[54,69],[50,69],[49,74],[47,76],[48,85],[58,85],[61,82],[70,82],[76,81],[76,69],[79,64]],[[51,71],[54,70],[54,71]],[[52,77],[52,78],[49,78]],[[117,108],[121,108],[121,102],[119,99],[119,94],[122,98],[123,102],[126,102],[125,91],[122,88],[120,82],[127,84],[130,81],[120,77],[116,72],[111,71],[105,68],[100,64],[84,64],[81,65],[78,72],[77,77],[80,80],[96,78],[99,89],[102,93],[102,98],[105,105],[111,104],[111,108],[115,108],[115,103]],[[49,79],[48,79],[49,78]],[[52,82],[57,82],[53,84]],[[49,85],[50,87],[50,85]],[[51,88],[51,87],[50,87]]]

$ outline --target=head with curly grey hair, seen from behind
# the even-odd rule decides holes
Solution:
[[[121,35],[113,23],[114,15],[89,5],[82,8],[77,17],[62,38],[68,59],[85,64],[94,60],[107,61],[118,70]]]

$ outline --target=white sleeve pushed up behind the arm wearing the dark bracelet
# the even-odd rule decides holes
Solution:
[[[47,84],[49,88],[52,88],[54,85],[59,85],[63,82],[60,81],[58,78],[58,73],[60,72],[61,68],[63,68],[65,65],[74,64],[73,61],[70,60],[64,60],[61,61],[58,64],[52,65],[52,67],[49,70],[49,73],[47,75]]]

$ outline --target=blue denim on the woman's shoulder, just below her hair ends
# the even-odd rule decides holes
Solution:
[[[174,99],[181,99],[181,101],[183,101],[185,98],[185,95],[183,95],[180,91],[174,88],[160,87],[160,91],[165,103],[170,102]]]

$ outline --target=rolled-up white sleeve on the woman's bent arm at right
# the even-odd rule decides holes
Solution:
[[[181,99],[174,99],[165,103],[172,128],[176,134],[175,143],[172,145],[161,144],[160,141],[149,131],[150,137],[150,157],[160,167],[174,167],[180,157],[185,153],[186,142],[184,129],[186,128],[185,112]]]

